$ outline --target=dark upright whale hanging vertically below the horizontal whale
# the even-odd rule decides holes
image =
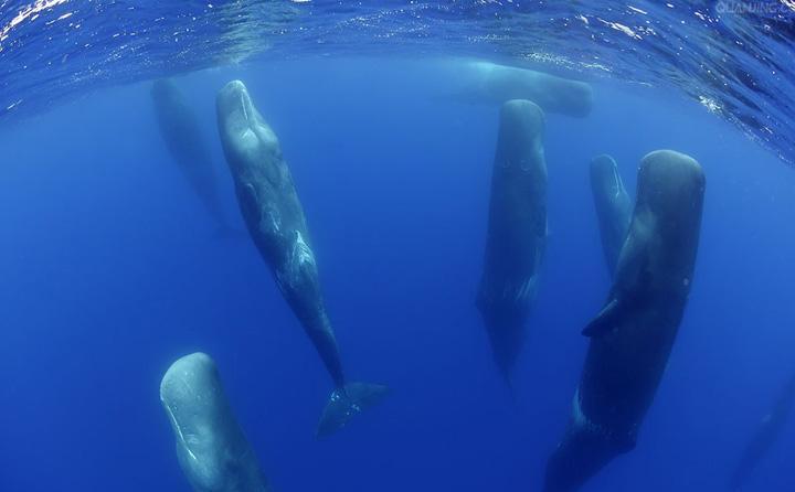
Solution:
[[[477,307],[509,384],[547,246],[543,135],[544,114],[536,104],[515,99],[502,105]]]

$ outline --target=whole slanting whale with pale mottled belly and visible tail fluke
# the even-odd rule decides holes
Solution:
[[[304,210],[276,133],[240,81],[221,89],[216,109],[221,142],[248,233],[335,384],[317,429],[317,436],[324,437],[381,402],[388,388],[346,378]]]

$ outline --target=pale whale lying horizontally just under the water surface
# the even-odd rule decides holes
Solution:
[[[591,114],[590,84],[555,75],[483,61],[454,61],[452,97],[457,100],[501,105],[511,99],[536,103],[545,113],[583,118]]]

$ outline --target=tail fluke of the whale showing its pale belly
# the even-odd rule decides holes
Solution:
[[[336,388],[320,417],[316,437],[330,436],[354,415],[381,403],[388,394],[386,386],[373,383],[348,383],[343,388]]]

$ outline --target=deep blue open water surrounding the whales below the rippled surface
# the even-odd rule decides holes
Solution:
[[[239,225],[214,95],[246,82],[297,183],[348,373],[394,391],[320,442],[330,381],[254,247],[213,236],[148,84],[4,128],[0,490],[189,491],[158,385],[197,350],[215,359],[277,491],[539,490],[580,330],[608,288],[587,162],[612,153],[634,193],[659,148],[707,172],[696,284],[637,449],[585,490],[725,490],[795,371],[795,173],[651,89],[597,85],[587,119],[549,115],[551,235],[513,404],[474,308],[498,109],[434,97],[446,81],[424,68],[315,60],[178,79]],[[793,445],[791,423],[749,490],[795,489]]]

